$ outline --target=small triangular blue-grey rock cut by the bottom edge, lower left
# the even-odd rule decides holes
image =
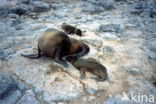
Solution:
[[[26,94],[17,102],[17,104],[40,104],[35,98],[32,90],[26,91]]]

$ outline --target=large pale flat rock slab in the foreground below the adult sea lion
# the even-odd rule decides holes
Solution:
[[[23,59],[24,61],[21,61]],[[83,86],[78,80],[72,78],[65,72],[46,73],[46,71],[49,70],[48,66],[51,62],[52,60],[48,60],[47,57],[42,59],[42,61],[30,61],[23,57],[14,57],[14,59],[12,58],[12,60],[10,60],[10,65],[16,66],[18,64],[16,70],[13,69],[14,72],[21,80],[33,85],[36,94],[43,95],[41,100],[51,102],[57,100],[70,100],[82,96]],[[24,64],[28,64],[28,66],[25,67]]]

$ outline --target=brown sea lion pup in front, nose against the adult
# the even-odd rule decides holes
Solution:
[[[97,81],[104,81],[107,79],[107,69],[100,63],[96,61],[91,61],[87,59],[77,58],[75,56],[65,56],[63,59],[70,62],[74,67],[80,70],[81,77],[85,77],[85,71],[88,71],[98,78]]]

